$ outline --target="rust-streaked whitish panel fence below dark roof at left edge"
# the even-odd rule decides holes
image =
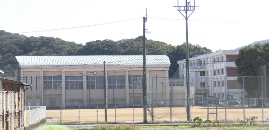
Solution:
[[[0,130],[23,127],[23,92],[0,91]]]

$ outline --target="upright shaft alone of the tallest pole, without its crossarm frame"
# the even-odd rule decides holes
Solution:
[[[185,0],[185,19],[186,19],[186,70],[187,70],[187,120],[190,122],[190,74],[189,74],[189,43],[188,43],[188,9]]]

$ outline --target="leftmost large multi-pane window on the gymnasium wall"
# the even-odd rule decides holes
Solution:
[[[43,89],[62,89],[62,76],[43,76]]]

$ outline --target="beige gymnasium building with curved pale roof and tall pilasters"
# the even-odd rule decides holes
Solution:
[[[25,91],[26,106],[104,104],[104,78],[108,104],[143,104],[143,55],[16,56],[16,59],[21,81],[32,84]],[[146,56],[148,102],[153,98],[169,99],[168,80],[153,78],[168,79],[169,66],[166,55]],[[150,99],[152,95],[148,93],[151,88],[155,91],[155,87],[162,90],[161,94]]]

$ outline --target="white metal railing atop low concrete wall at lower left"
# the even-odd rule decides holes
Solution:
[[[25,107],[24,126],[28,126],[29,124],[32,124],[45,117],[45,106],[27,106]]]

